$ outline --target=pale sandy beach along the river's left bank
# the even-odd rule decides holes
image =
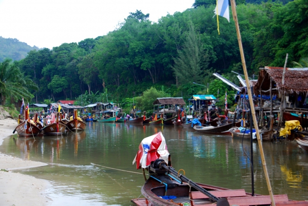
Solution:
[[[4,138],[13,135],[17,126],[17,121],[5,113],[0,107],[0,145]],[[22,160],[0,153],[0,205],[50,205],[52,200],[46,196],[46,192],[51,188],[51,183],[18,173],[18,170],[45,165],[43,162]]]

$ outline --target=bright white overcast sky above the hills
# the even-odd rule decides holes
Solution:
[[[0,36],[39,48],[97,38],[113,31],[129,12],[157,22],[195,0],[0,0]],[[0,45],[1,46],[1,45]]]

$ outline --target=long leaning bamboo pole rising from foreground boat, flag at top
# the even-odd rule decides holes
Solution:
[[[235,0],[231,0],[230,2],[231,2],[231,7],[232,7],[233,20],[235,22],[236,33],[237,33],[238,42],[239,42],[239,48],[240,48],[240,53],[241,53],[241,59],[242,59],[242,64],[243,64],[243,71],[244,71],[244,75],[245,75],[245,80],[246,80],[246,84],[249,85],[248,73],[247,73],[247,69],[246,69],[243,45],[242,45],[242,40],[241,40],[240,27],[239,27],[239,23],[238,23],[238,19],[237,19],[237,13],[236,13]],[[253,97],[252,97],[252,91],[251,91],[251,88],[249,86],[247,87],[247,91],[248,91],[249,103],[251,105],[251,112],[252,112],[252,115],[253,115],[254,124],[257,125],[257,118],[256,118],[256,112],[255,112]],[[268,192],[269,192],[269,196],[271,196],[272,205],[275,206],[276,204],[275,204],[275,200],[274,200],[274,196],[273,196],[271,182],[269,181],[269,177],[268,177],[268,173],[267,173],[266,162],[265,162],[262,142],[261,142],[261,138],[260,138],[259,128],[256,126],[255,129],[256,129],[256,133],[257,133],[257,139],[258,139],[258,144],[259,144],[259,149],[260,149],[260,155],[261,155],[264,175],[265,175],[265,178],[266,178],[267,189],[268,189]]]

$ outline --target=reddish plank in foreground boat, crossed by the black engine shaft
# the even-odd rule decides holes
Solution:
[[[208,191],[210,194],[216,196],[216,197],[242,197],[246,196],[245,190],[217,190],[217,191]],[[197,191],[197,192],[191,192],[189,194],[190,199],[202,199],[202,198],[208,198],[203,193]]]

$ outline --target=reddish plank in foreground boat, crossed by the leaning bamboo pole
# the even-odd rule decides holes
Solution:
[[[230,205],[237,204],[243,205],[259,205],[259,204],[271,204],[271,197],[269,195],[254,196],[254,197],[229,197],[227,198]],[[287,202],[287,195],[274,195],[275,203]]]

